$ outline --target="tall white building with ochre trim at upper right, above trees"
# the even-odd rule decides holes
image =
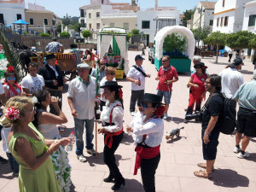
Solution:
[[[244,5],[252,0],[218,0],[215,4],[213,32],[238,32],[242,30]]]

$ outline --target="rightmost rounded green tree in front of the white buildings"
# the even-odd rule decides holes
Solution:
[[[253,32],[248,31],[240,31],[236,33],[227,34],[226,37],[226,45],[228,45],[231,49],[246,49],[251,48],[252,44],[250,40],[253,39],[255,35]],[[239,56],[241,55],[241,51],[239,52]]]

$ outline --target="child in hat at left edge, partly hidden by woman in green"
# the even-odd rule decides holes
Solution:
[[[7,144],[7,138],[9,136],[9,131],[11,130],[12,124],[9,123],[9,120],[3,115],[0,119],[0,125],[3,126],[3,129],[1,130],[1,137],[3,141],[3,151],[6,152],[6,155],[8,157],[9,165],[11,166],[12,171],[14,172],[15,176],[19,175],[19,164],[15,160],[14,156],[11,154],[8,148]]]

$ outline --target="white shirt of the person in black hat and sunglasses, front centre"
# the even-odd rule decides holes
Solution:
[[[160,118],[150,118],[145,123],[143,120],[146,116],[142,112],[138,111],[131,121],[131,127],[133,127],[133,140],[134,144],[143,142],[143,135],[147,134],[144,141],[149,147],[157,147],[162,143],[164,136],[164,122]]]

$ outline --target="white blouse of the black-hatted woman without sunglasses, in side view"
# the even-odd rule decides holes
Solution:
[[[103,110],[101,113],[101,120],[102,124],[104,125],[104,129],[108,132],[118,132],[121,131],[123,128],[123,117],[124,117],[124,109],[122,106],[117,106],[113,108],[116,105],[122,105],[121,102],[115,101],[113,103],[110,103],[108,107],[109,101],[107,100],[106,106],[103,106]],[[109,123],[110,113],[112,112],[112,123],[114,125],[108,125],[105,126],[106,123]]]

